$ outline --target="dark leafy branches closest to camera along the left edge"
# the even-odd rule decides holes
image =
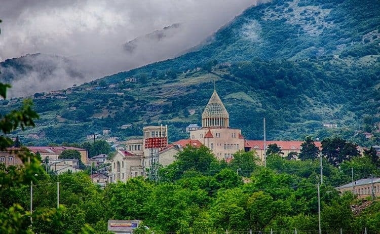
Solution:
[[[0,97],[6,99],[7,88],[10,87],[10,85],[0,83]],[[34,120],[39,116],[31,109],[31,105],[31,100],[26,99],[20,109],[0,114],[1,131],[9,134],[18,128],[24,130],[25,127],[34,126]],[[12,141],[9,138],[5,135],[0,136],[1,150],[11,145]],[[19,202],[9,200],[9,196],[5,192],[28,186],[31,181],[36,182],[35,174],[44,174],[44,170],[40,166],[41,162],[26,148],[14,151],[14,153],[17,153],[17,157],[21,159],[24,167],[20,169],[0,164],[0,187],[2,188],[0,189],[0,233],[33,233],[33,229],[29,227],[30,220],[43,220],[47,224],[51,223],[55,210],[35,210],[31,214]]]

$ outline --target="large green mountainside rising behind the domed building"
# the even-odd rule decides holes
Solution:
[[[266,118],[268,139],[336,134],[376,143],[377,138],[364,141],[355,131],[377,136],[379,30],[378,1],[272,1],[247,9],[211,41],[175,59],[62,94],[37,95],[37,127],[14,134],[24,143],[47,144],[83,141],[87,134],[110,128],[126,139],[140,136],[143,125],[168,124],[169,140],[186,138],[184,128],[200,124],[216,81],[230,126],[241,128],[248,139],[262,138]],[[1,104],[0,112],[19,101]],[[132,126],[120,128],[127,124]]]

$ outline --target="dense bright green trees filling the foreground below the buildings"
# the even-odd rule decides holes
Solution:
[[[33,218],[29,230],[105,233],[108,219],[140,219],[155,233],[318,230],[318,159],[289,161],[273,153],[264,168],[256,165],[254,152],[238,152],[227,164],[217,161],[206,147],[187,147],[176,158],[160,170],[157,184],[139,177],[104,189],[93,184],[86,173],[57,177],[39,170],[42,174],[33,176],[33,212],[49,211],[52,217]],[[367,228],[369,233],[379,232],[380,213],[374,208],[378,201],[354,215],[350,206],[363,201],[350,192],[339,194],[334,188],[351,180],[351,167],[357,178],[380,175],[371,160],[355,157],[343,162],[341,169],[327,161],[324,165],[320,187],[322,229],[359,233]],[[24,170],[16,173],[21,175]],[[58,181],[61,206],[56,209]],[[20,209],[27,210],[29,189],[28,184],[2,189],[2,206],[19,204]]]

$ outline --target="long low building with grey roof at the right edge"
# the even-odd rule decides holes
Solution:
[[[354,181],[336,187],[340,192],[351,191],[358,196],[359,199],[364,199],[373,195],[380,197],[380,178],[367,178]]]

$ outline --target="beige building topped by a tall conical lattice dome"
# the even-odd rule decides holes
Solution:
[[[244,150],[241,130],[230,128],[230,115],[215,89],[202,113],[202,128],[191,131],[190,138],[210,148],[219,160],[229,161],[235,152]]]

